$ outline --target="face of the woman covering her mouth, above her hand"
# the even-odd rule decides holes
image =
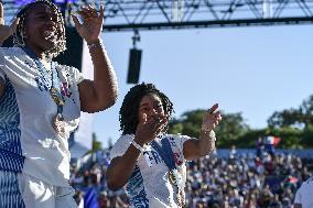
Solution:
[[[155,94],[148,94],[142,97],[138,110],[139,122],[142,122],[143,113],[147,114],[147,120],[164,117],[162,100]]]

